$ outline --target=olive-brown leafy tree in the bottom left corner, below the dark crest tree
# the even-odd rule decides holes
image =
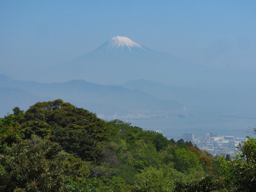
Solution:
[[[0,191],[59,191],[67,177],[88,177],[89,166],[62,151],[60,145],[32,136],[0,154]]]

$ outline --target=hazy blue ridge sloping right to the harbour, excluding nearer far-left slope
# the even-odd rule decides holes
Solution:
[[[140,90],[131,91],[120,86],[103,86],[84,80],[47,84],[13,80],[0,75],[0,84],[0,87],[22,89],[35,97],[62,98],[65,102],[74,102],[96,113],[110,114],[117,110],[120,114],[127,114],[134,110],[175,110],[183,106],[177,101],[160,100]]]

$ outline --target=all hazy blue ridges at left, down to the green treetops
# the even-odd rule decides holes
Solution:
[[[83,107],[95,113],[105,115],[128,114],[140,111],[168,111],[182,109],[183,105],[175,100],[160,100],[140,90],[130,90],[120,86],[103,86],[72,80],[65,83],[38,83],[33,81],[13,80],[6,75],[0,75],[0,115],[19,106],[22,109],[35,102],[63,99],[78,107]]]

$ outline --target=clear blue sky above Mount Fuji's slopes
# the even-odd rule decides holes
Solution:
[[[212,66],[256,72],[256,1],[0,1],[0,73],[17,79],[113,36]]]

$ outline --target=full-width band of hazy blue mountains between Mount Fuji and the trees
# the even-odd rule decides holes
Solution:
[[[26,110],[38,101],[61,98],[105,117],[127,114],[168,114],[170,111],[197,110],[200,114],[245,112],[254,117],[256,89],[195,89],[167,86],[150,80],[120,85],[100,85],[84,80],[65,83],[38,83],[0,75],[0,116],[19,106]]]

